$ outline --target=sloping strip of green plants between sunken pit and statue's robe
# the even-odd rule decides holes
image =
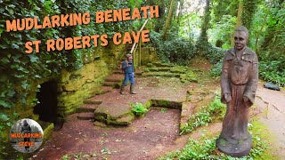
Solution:
[[[216,94],[215,99],[208,104],[208,107],[189,117],[180,134],[187,134],[195,131],[199,126],[208,125],[214,118],[222,119],[224,111],[225,105],[221,102],[220,95]]]

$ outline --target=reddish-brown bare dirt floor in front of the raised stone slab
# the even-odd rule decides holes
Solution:
[[[156,159],[167,151],[163,148],[174,148],[179,122],[180,110],[169,108],[151,108],[145,117],[117,128],[78,121],[74,114],[60,132],[53,132],[52,139],[32,159],[61,159],[61,156],[76,156],[80,152],[97,155],[91,159]]]

